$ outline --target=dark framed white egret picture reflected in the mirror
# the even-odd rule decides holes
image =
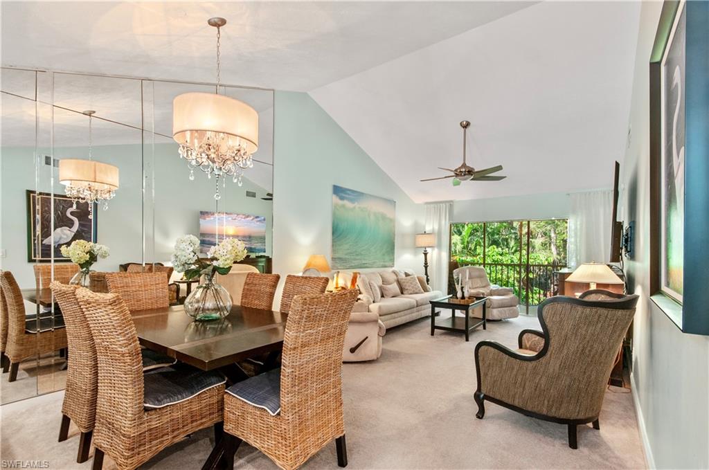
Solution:
[[[62,256],[63,245],[74,240],[96,242],[95,206],[90,218],[89,203],[79,202],[74,207],[74,201],[63,194],[26,192],[28,262],[69,262]]]

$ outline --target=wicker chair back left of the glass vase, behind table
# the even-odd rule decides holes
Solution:
[[[109,272],[106,284],[109,292],[123,298],[130,311],[165,308],[170,303],[164,272]]]

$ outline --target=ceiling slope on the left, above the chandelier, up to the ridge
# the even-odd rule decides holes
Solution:
[[[524,2],[2,2],[4,65],[309,91]]]

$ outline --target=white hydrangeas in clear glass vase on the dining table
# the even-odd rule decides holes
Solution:
[[[214,282],[214,274],[228,274],[235,262],[246,257],[246,247],[237,238],[225,238],[209,249],[207,257],[199,257],[198,250],[199,239],[184,235],[177,239],[172,253],[175,271],[184,273],[185,279],[202,279],[185,299],[184,310],[195,320],[225,318],[231,311],[232,299],[223,286]]]

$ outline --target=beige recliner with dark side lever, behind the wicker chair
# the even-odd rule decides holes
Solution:
[[[379,313],[367,311],[366,303],[355,303],[345,335],[345,346],[342,348],[342,361],[362,362],[379,359],[381,337],[385,334],[386,327],[379,320]]]

